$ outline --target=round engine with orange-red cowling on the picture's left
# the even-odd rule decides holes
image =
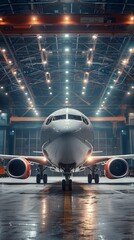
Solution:
[[[23,158],[13,158],[7,164],[7,174],[12,178],[28,178],[31,174],[30,163]]]

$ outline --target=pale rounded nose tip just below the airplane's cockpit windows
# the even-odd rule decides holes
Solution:
[[[81,130],[82,122],[74,121],[74,120],[61,120],[58,123],[53,124],[53,129],[59,133],[69,133],[69,132],[77,132]]]

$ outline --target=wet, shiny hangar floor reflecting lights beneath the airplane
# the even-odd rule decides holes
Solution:
[[[0,178],[0,240],[134,239],[134,178],[88,185],[76,177],[72,192],[48,180]]]

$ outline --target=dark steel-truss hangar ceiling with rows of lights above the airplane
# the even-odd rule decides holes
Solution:
[[[118,116],[133,109],[133,13],[133,0],[1,0],[0,110]],[[33,27],[40,16],[44,24]]]

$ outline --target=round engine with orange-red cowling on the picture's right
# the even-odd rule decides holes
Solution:
[[[128,163],[123,158],[111,158],[104,167],[105,176],[110,179],[123,178],[128,174]]]

